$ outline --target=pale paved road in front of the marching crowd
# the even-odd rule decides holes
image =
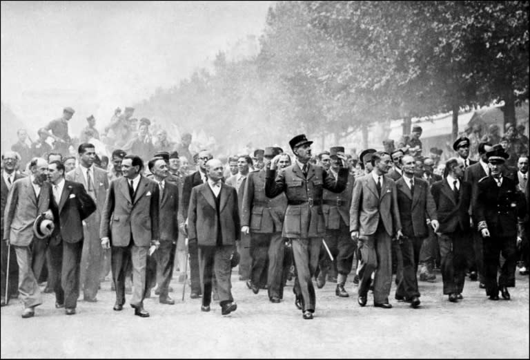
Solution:
[[[266,291],[254,295],[233,275],[238,308],[229,316],[217,304],[201,312],[189,292],[181,302],[182,285],[175,279],[171,285],[177,304],[147,299],[148,319],[130,307],[112,311],[108,281],[98,303],[80,301],[75,316],[55,309],[52,294],[32,319],[21,319],[21,305],[12,301],[1,308],[1,357],[529,358],[529,278],[519,274],[511,301],[489,301],[477,282],[466,281],[456,304],[442,296],[438,274],[435,283],[420,283],[418,310],[397,301],[391,310],[375,308],[371,296],[361,308],[356,296],[339,299],[335,284],[326,283],[317,290],[312,321],[295,309],[292,283],[285,301],[273,304]],[[354,294],[355,286],[347,290]]]

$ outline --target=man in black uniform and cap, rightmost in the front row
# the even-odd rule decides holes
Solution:
[[[490,300],[509,300],[508,287],[515,287],[517,223],[526,214],[526,204],[516,183],[502,175],[509,155],[495,145],[487,154],[490,175],[478,182],[473,214],[478,221],[484,247],[484,280]],[[505,259],[497,278],[499,255]]]

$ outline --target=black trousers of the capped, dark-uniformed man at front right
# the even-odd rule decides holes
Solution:
[[[516,247],[514,236],[491,236],[484,238],[484,285],[486,294],[497,295],[499,287],[514,287],[516,273]],[[504,264],[497,279],[499,256],[502,254]]]

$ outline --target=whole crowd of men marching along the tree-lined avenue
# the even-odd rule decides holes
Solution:
[[[1,305],[18,297],[23,318],[43,301],[39,284],[72,315],[81,293],[97,301],[109,274],[113,309],[132,294],[135,315],[147,317],[153,290],[175,304],[173,270],[186,282],[188,263],[190,298],[202,299],[203,312],[212,301],[223,315],[237,310],[237,266],[239,281],[254,294],[266,290],[271,303],[294,279],[304,319],[315,312],[313,281],[336,283],[336,296],[349,297],[352,276],[360,306],[372,290],[373,305],[389,309],[394,275],[395,300],[416,308],[418,281],[435,281],[436,269],[453,303],[467,276],[497,301],[510,299],[517,265],[528,274],[524,128],[478,139],[473,127],[445,162],[440,149],[423,155],[418,125],[397,147],[385,140],[359,155],[344,146],[315,155],[302,134],[290,152],[262,144],[214,156],[192,153],[189,133],[177,144],[159,129],[153,141],[150,120],[136,120],[130,107],[116,109],[101,138],[92,115],[71,138],[74,113],[64,108],[31,146],[20,129],[1,158]]]

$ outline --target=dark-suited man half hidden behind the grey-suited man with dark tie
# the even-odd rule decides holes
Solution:
[[[175,301],[169,296],[169,283],[173,277],[175,263],[175,244],[179,236],[179,187],[166,181],[169,177],[167,162],[162,158],[149,161],[149,171],[157,182],[160,191],[160,247],[153,254],[156,269],[148,272],[148,287],[158,283],[159,302],[174,305]]]

